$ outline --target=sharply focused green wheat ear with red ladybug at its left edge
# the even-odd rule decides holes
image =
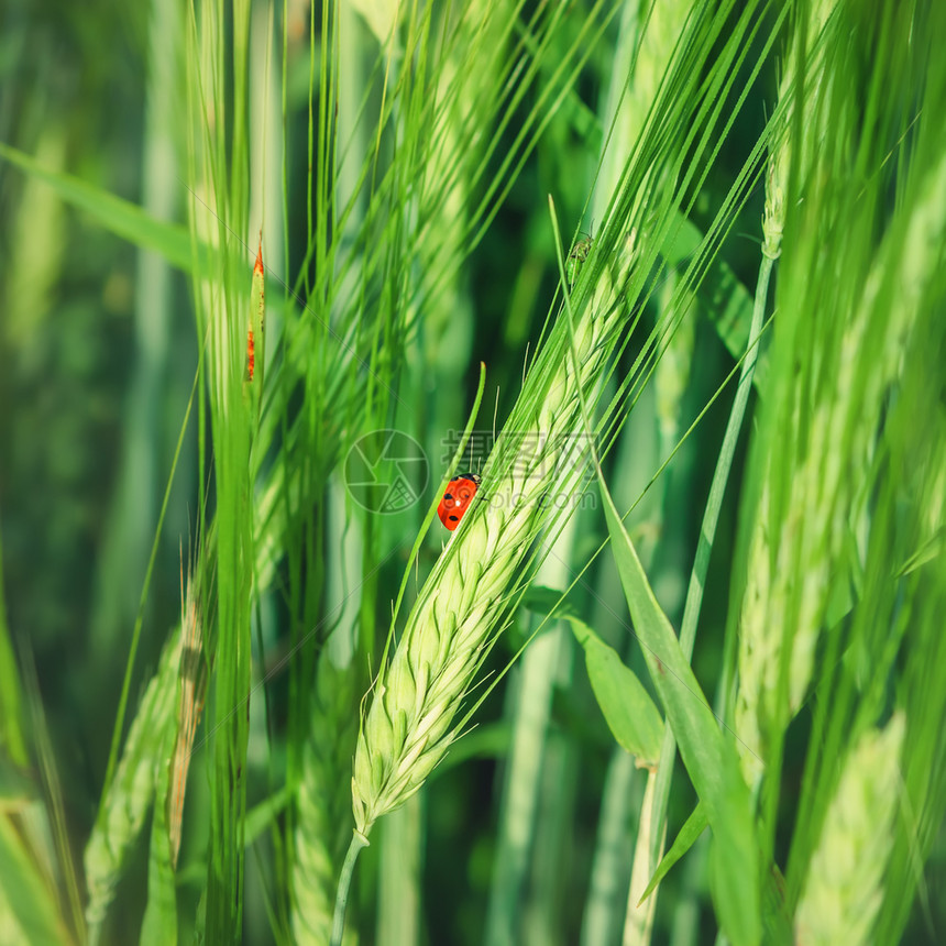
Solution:
[[[604,374],[622,312],[613,287],[627,278],[631,254],[617,261],[617,278],[604,274],[571,340],[568,321],[557,323],[483,470],[483,501],[453,534],[377,674],[352,777],[355,827],[365,838],[424,784],[458,736],[454,717],[548,514],[541,501],[562,475],[580,398],[590,398]]]

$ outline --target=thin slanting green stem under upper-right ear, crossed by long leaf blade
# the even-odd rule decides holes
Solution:
[[[719,449],[719,459],[716,462],[713,483],[710,487],[710,497],[706,501],[706,509],[703,514],[700,541],[696,546],[693,571],[690,574],[686,604],[683,608],[683,623],[680,628],[680,647],[688,660],[693,654],[693,644],[696,639],[696,622],[700,617],[700,607],[703,603],[703,588],[706,581],[706,572],[710,568],[710,557],[713,551],[716,526],[719,521],[719,510],[723,507],[723,494],[726,492],[729,470],[733,466],[733,455],[736,452],[736,442],[739,439],[739,431],[743,428],[743,419],[746,414],[746,405],[749,402],[749,392],[752,388],[752,375],[755,374],[756,362],[759,358],[758,336],[762,329],[766,298],[769,294],[769,279],[772,275],[774,262],[773,257],[765,255],[762,257],[762,265],[759,268],[752,322],[749,327],[749,350],[746,352],[746,360],[743,362],[743,371],[739,374],[739,386],[736,389],[736,399],[733,402],[733,410],[726,425],[726,435],[723,438],[723,447]],[[657,799],[653,804],[654,828],[663,824],[667,817],[670,781],[673,774],[673,766],[670,760],[673,758],[675,751],[676,739],[668,724],[663,732],[663,748],[660,754],[662,765],[657,777]],[[660,846],[662,844],[662,832],[654,829],[653,838],[654,845]],[[654,849],[651,864],[657,865],[659,862],[660,854],[659,848]]]

